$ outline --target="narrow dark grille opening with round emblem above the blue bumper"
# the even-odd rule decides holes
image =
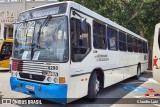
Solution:
[[[21,78],[32,79],[36,81],[44,81],[45,79],[44,75],[36,75],[36,74],[28,74],[28,73],[19,73],[19,76]]]

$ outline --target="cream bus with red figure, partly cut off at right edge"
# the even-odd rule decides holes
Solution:
[[[160,23],[156,24],[154,31],[154,42],[153,42],[153,61],[152,61],[152,71],[153,79],[160,82]]]

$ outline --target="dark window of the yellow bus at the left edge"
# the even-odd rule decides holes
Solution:
[[[0,59],[1,60],[9,59],[11,54],[12,54],[12,43],[4,42],[0,53]]]

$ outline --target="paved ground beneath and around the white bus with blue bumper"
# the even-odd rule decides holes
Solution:
[[[20,98],[26,100],[33,98],[31,96],[11,91],[9,78],[11,74],[8,72],[0,72],[0,99],[5,98]],[[160,84],[153,80],[152,72],[147,71],[141,75],[139,80],[129,78],[120,83],[107,87],[98,93],[98,99],[95,102],[89,102],[86,98],[78,99],[66,105],[56,104],[50,101],[41,99],[42,105],[10,105],[0,104],[0,107],[156,107],[159,104],[137,104],[140,101],[144,101],[144,98],[160,98],[160,96],[153,96],[154,94],[160,94]],[[151,92],[152,91],[152,92]],[[149,96],[146,96],[149,95]],[[138,98],[140,99],[137,101]],[[35,98],[36,99],[36,98]],[[113,100],[114,104],[110,104]],[[135,101],[134,101],[135,100]],[[135,104],[129,104],[133,103]]]

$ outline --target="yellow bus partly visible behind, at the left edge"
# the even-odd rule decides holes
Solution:
[[[0,71],[10,70],[10,58],[12,55],[12,39],[0,39]]]

